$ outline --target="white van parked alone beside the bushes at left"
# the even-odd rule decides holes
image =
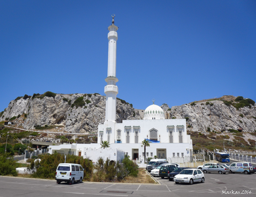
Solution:
[[[82,183],[83,167],[79,164],[61,163],[58,165],[55,180],[58,184],[62,181],[73,184],[75,181]]]

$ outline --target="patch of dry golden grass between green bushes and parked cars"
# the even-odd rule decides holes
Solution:
[[[128,176],[125,180],[120,181],[121,183],[156,183],[150,175],[147,174],[145,169],[139,169],[137,177]]]

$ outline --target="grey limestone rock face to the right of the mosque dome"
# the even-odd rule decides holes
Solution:
[[[243,132],[254,132],[256,130],[256,104],[254,106],[243,107],[237,110],[230,105],[226,106],[221,100],[213,100],[211,104],[206,102],[197,102],[195,105],[183,104],[171,108],[171,117],[185,118],[189,117],[187,128],[192,131],[205,132],[207,127],[211,131],[227,131],[228,129],[242,128]],[[242,114],[242,115],[241,115]],[[243,118],[242,118],[243,116]]]

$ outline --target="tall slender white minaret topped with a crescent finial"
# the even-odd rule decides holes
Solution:
[[[115,14],[112,14],[112,25],[108,27],[108,39],[109,39],[109,56],[108,56],[108,68],[107,68],[107,86],[105,86],[104,93],[106,94],[106,121],[116,122],[116,95],[118,94],[118,87],[116,82],[116,41],[118,27],[114,25]]]

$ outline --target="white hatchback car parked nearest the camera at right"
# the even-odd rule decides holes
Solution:
[[[200,169],[183,169],[180,174],[174,176],[173,181],[178,183],[190,183],[194,182],[204,183],[204,173]]]

